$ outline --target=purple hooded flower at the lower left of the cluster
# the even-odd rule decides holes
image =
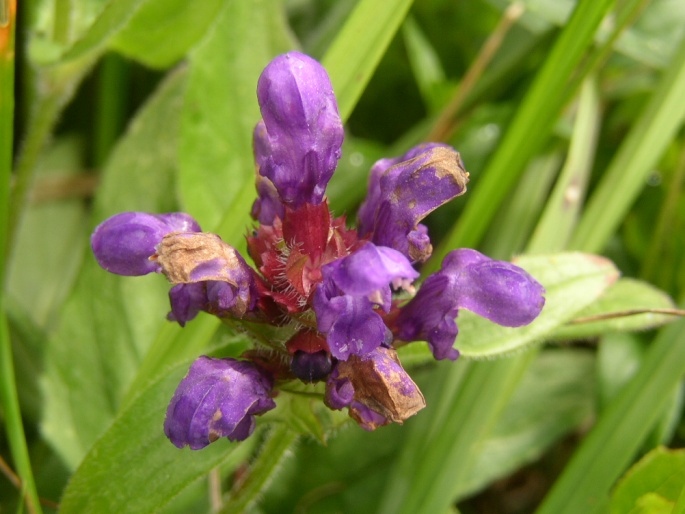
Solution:
[[[192,450],[221,437],[242,441],[254,431],[254,417],[276,406],[272,385],[251,362],[199,357],[169,403],[164,433],[178,448]]]

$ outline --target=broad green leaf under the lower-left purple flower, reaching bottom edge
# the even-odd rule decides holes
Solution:
[[[247,457],[250,443],[221,440],[201,451],[179,450],[164,436],[170,394],[189,364],[178,365],[152,383],[117,415],[69,482],[60,512],[158,512],[210,470]]]

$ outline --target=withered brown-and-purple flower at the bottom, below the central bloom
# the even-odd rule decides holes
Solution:
[[[426,406],[397,352],[382,346],[337,363],[326,383],[326,404],[332,409],[349,407],[350,416],[366,430],[402,423]]]

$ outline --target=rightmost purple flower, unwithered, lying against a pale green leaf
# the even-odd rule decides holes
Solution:
[[[452,346],[459,309],[467,309],[499,325],[519,327],[532,322],[545,304],[544,288],[509,262],[492,260],[467,248],[447,254],[442,268],[430,275],[416,296],[400,309],[398,335],[405,341],[425,340],[436,359],[454,360]]]

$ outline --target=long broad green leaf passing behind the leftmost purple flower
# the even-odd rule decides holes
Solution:
[[[93,223],[124,210],[173,210],[174,142],[183,74],[159,89],[105,169]],[[84,245],[85,246],[85,245]],[[163,277],[124,278],[102,270],[90,248],[48,342],[41,386],[46,439],[74,468],[117,411],[152,334],[168,311]]]

